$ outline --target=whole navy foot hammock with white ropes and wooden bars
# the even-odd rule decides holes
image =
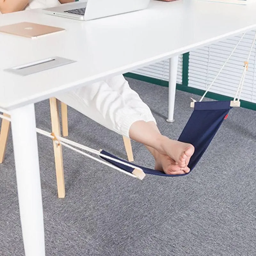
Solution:
[[[243,34],[244,36],[244,34]],[[241,37],[240,41],[242,40],[243,36]],[[208,89],[204,93],[204,95],[201,97],[199,102],[196,102],[196,100],[193,100],[191,102],[190,107],[194,108],[193,113],[191,114],[188,123],[184,127],[183,131],[180,134],[180,137],[178,141],[190,143],[195,147],[195,152],[193,156],[191,156],[190,161],[188,163],[188,167],[190,168],[190,172],[195,168],[196,164],[200,160],[200,158],[203,156],[205,150],[209,146],[210,142],[212,141],[214,135],[219,130],[222,122],[227,118],[228,112],[233,107],[240,107],[240,96],[244,84],[244,77],[246,74],[246,71],[248,70],[248,63],[250,54],[252,52],[252,47],[254,45],[254,42],[256,40],[256,33],[254,36],[254,40],[251,46],[251,50],[249,52],[249,56],[247,58],[247,61],[244,61],[244,71],[240,80],[240,83],[238,85],[236,95],[234,97],[234,100],[232,101],[208,101],[208,102],[202,102],[204,96],[206,93],[210,90],[212,84],[216,80],[217,76],[220,74],[221,70],[224,68],[225,64],[228,62],[229,58],[235,51],[237,45],[240,43],[240,41],[236,44],[234,50],[229,55],[228,59],[224,63],[224,65],[221,67],[219,73],[217,76],[213,79],[212,83],[209,85]],[[2,115],[0,115],[2,117]],[[7,118],[7,117],[2,117]],[[66,146],[70,149],[75,150],[76,152],[90,157],[102,164],[106,164],[109,167],[112,167],[120,172],[124,172],[132,177],[136,177],[140,180],[142,180],[145,177],[145,174],[152,174],[152,175],[158,175],[158,176],[170,176],[170,177],[177,177],[177,176],[185,176],[187,173],[184,174],[165,174],[164,172],[149,169],[143,166],[139,166],[136,164],[131,164],[123,159],[120,159],[104,150],[97,151],[92,148],[88,148],[86,146],[83,146],[81,144],[78,144],[76,142],[67,140],[65,138],[61,138],[59,136],[55,136],[54,133],[47,133],[43,130],[37,129],[37,132],[44,134],[48,137],[51,137],[52,140],[57,144],[62,144],[63,146]],[[70,146],[72,145],[72,146]],[[89,151],[93,154],[96,154],[100,156],[103,161],[99,158],[93,157],[81,150],[78,150],[74,147],[81,148],[85,151]],[[190,173],[189,172],[189,173]]]

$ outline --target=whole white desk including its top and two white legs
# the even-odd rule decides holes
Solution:
[[[67,29],[35,40],[0,34],[0,108],[12,117],[26,256],[45,255],[34,103],[58,92],[171,58],[169,119],[172,121],[178,55],[256,28],[255,11],[255,4],[180,0],[152,1],[147,10],[89,22],[35,11],[0,17],[0,25],[30,21]],[[25,77],[3,70],[53,56],[77,62]]]

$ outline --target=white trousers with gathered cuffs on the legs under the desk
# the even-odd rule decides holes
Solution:
[[[129,129],[134,122],[155,120],[148,106],[123,76],[86,85],[56,98],[126,137],[129,137]]]

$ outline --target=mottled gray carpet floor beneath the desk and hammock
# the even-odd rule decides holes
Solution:
[[[177,139],[191,94],[177,91],[169,124],[168,89],[128,80],[161,132]],[[70,139],[126,157],[120,135],[71,108],[68,114]],[[51,130],[48,100],[36,104],[36,122]],[[58,199],[52,141],[38,135],[46,255],[256,255],[255,145],[255,112],[234,108],[186,177],[140,181],[64,148],[66,198]],[[142,145],[132,148],[135,163],[154,166]],[[24,255],[11,136],[0,165],[0,255]]]

